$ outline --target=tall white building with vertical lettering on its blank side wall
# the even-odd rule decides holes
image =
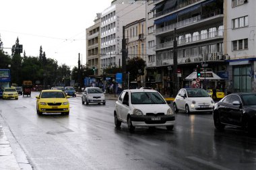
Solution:
[[[100,18],[100,73],[122,66],[123,26],[145,17],[144,1],[113,1]],[[132,17],[131,17],[132,16]]]

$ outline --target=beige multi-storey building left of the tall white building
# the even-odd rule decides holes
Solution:
[[[100,15],[97,13],[94,25],[86,29],[86,63],[94,67],[95,75],[100,75]]]

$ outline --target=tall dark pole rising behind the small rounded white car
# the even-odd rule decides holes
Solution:
[[[178,56],[177,56],[177,40],[176,40],[176,28],[174,28],[174,41],[173,41],[173,81],[172,81],[172,88],[173,94],[172,96],[175,97],[179,91],[179,81],[177,77],[177,69],[178,69]]]

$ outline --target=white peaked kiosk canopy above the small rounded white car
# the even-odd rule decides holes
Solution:
[[[188,77],[185,78],[185,80],[187,80],[187,81],[193,81],[194,79],[197,79],[197,72],[196,71],[194,71]],[[203,80],[224,80],[212,71],[205,71],[205,72],[201,71],[201,77],[199,77],[199,79],[201,81],[203,81]]]

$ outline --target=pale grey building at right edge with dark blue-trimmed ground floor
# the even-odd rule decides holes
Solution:
[[[228,59],[229,91],[256,92],[256,1],[225,1],[224,53]]]

